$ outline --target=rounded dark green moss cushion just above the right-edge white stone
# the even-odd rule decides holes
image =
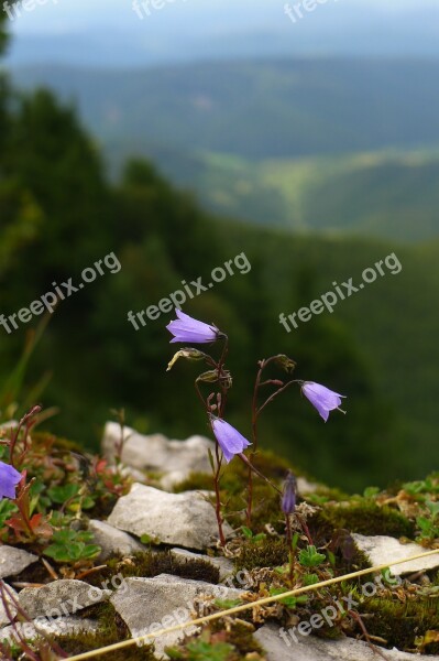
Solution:
[[[414,524],[400,512],[391,507],[380,507],[364,500],[352,505],[327,505],[314,514],[310,528],[320,534],[331,535],[336,529],[345,529],[361,534],[386,534],[395,538],[413,539]]]

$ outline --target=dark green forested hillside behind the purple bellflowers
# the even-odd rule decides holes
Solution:
[[[298,361],[299,378],[348,394],[350,424],[334,418],[325,425],[297,398],[285,398],[267,411],[266,447],[282,448],[311,473],[350,487],[359,485],[360,473],[385,481],[429,468],[437,453],[430,384],[438,353],[438,247],[299,239],[216,220],[147,163],[131,163],[110,186],[75,116],[46,93],[26,98],[9,122],[0,188],[2,313],[28,306],[54,281],[77,279],[110,252],[122,266],[59,304],[31,361],[30,384],[52,372],[42,398],[61,407],[59,429],[90,444],[109,409],[125,405],[128,420],[141,429],[176,436],[206,432],[185,386],[187,370],[177,366],[172,380],[165,372],[173,349],[164,326],[172,315],[136,332],[127,314],[244,251],[250,273],[237,273],[185,306],[233,330],[231,367],[240,376],[232,420],[248,424],[256,359],[284,351]],[[388,273],[332,315],[290,334],[279,324],[281,312],[307,305],[333,280],[358,278],[395,250],[399,274]],[[3,383],[37,321],[11,335],[1,328]],[[392,460],[383,460],[384,453]]]

